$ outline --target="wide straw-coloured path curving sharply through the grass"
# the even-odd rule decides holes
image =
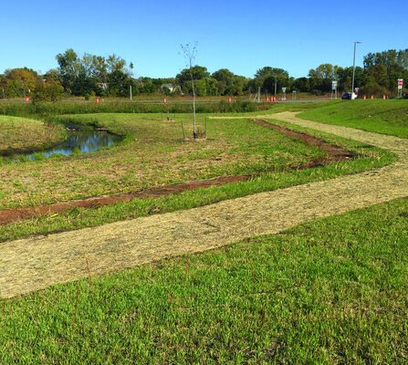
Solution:
[[[101,274],[202,252],[249,236],[275,234],[311,219],[408,196],[408,140],[300,120],[291,112],[265,118],[394,151],[399,161],[371,172],[187,211],[0,244],[0,297],[86,277],[87,262],[92,275]]]

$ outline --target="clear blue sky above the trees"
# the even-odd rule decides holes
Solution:
[[[307,76],[321,63],[352,65],[369,52],[408,48],[408,0],[0,0],[0,73],[57,68],[56,55],[112,53],[134,75],[174,77],[180,45],[197,41],[196,64],[252,77],[264,66]]]

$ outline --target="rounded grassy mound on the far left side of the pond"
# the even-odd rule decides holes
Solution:
[[[65,138],[58,124],[0,115],[0,156],[47,149]]]

